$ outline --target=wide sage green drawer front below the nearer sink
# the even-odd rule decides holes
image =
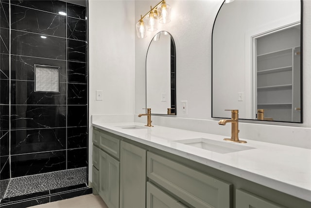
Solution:
[[[196,208],[232,207],[232,184],[147,152],[147,176]]]

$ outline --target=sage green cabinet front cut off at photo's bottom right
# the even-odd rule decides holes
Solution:
[[[284,208],[242,189],[236,190],[236,208]]]

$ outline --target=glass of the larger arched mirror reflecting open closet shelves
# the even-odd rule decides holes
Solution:
[[[212,117],[302,123],[300,0],[223,3],[212,34]]]

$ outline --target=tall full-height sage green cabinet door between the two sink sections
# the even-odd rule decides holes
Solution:
[[[146,206],[146,150],[121,141],[120,208]]]

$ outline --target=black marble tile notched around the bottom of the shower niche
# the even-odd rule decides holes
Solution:
[[[35,92],[34,81],[11,81],[12,105],[66,105],[66,84],[60,83],[60,93]]]

